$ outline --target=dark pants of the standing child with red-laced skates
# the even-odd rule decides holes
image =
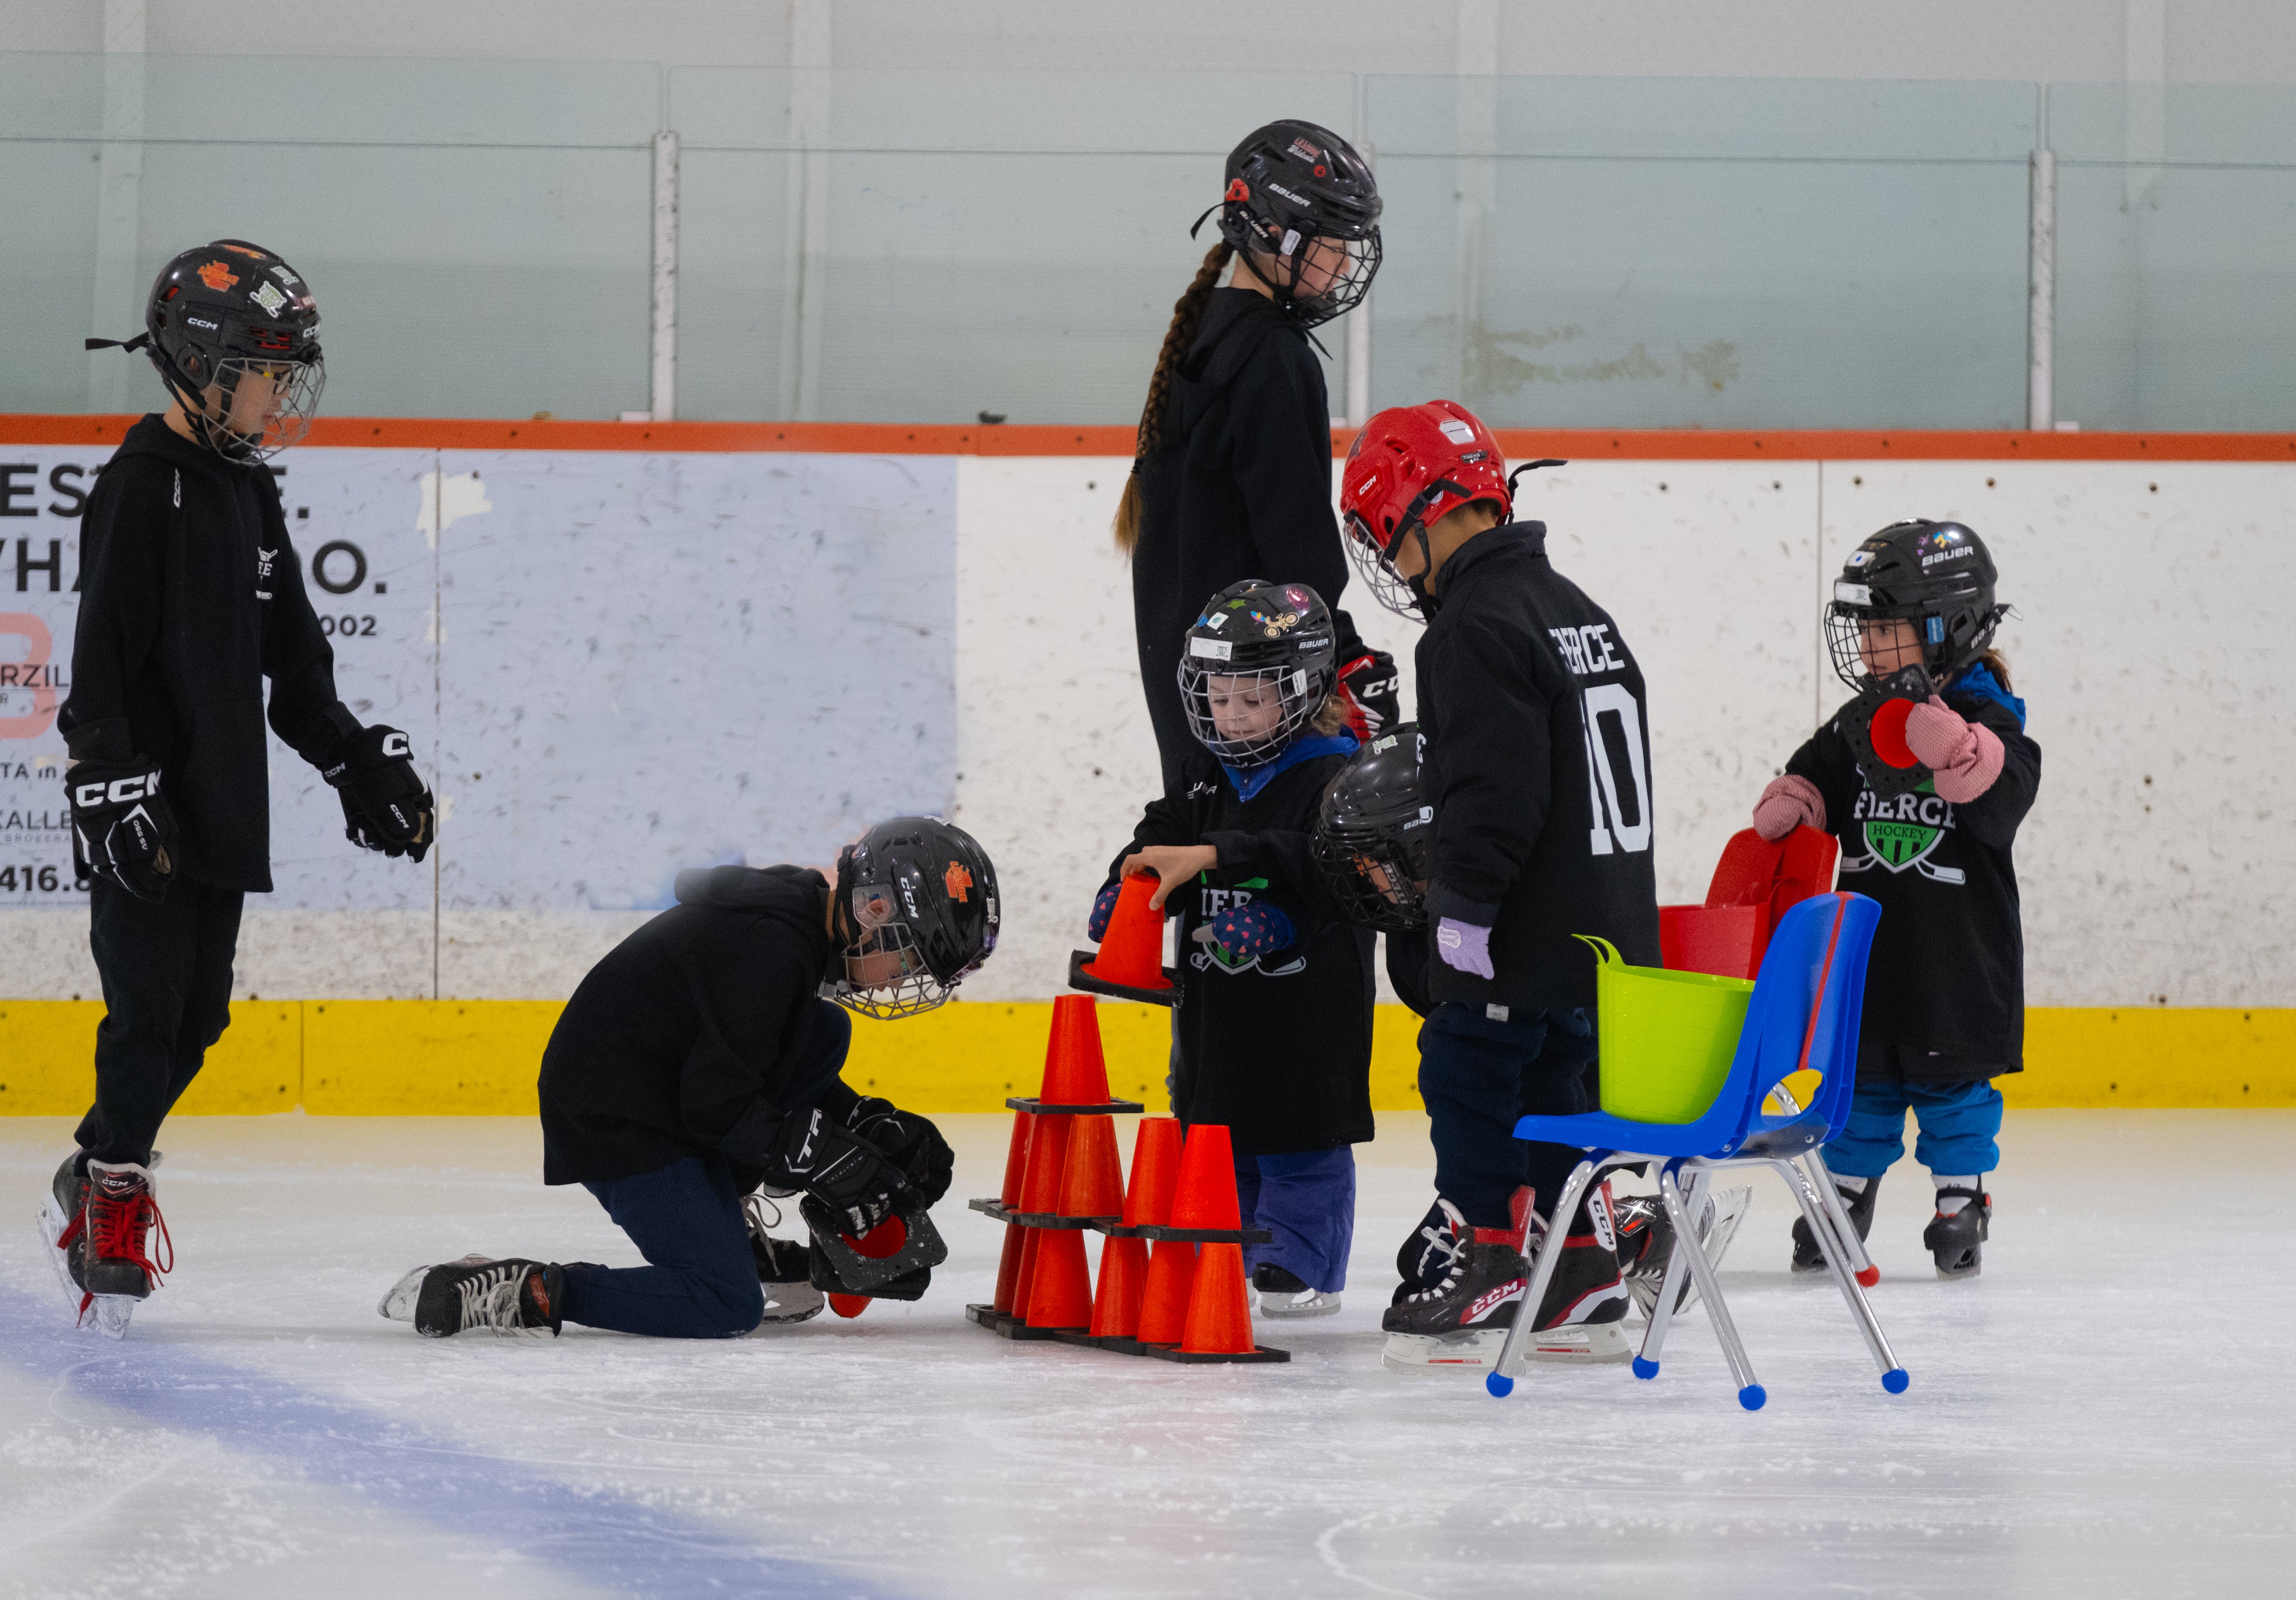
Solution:
[[[103,980],[96,1024],[96,1104],[80,1118],[80,1150],[96,1162],[152,1162],[152,1141],[232,1024],[236,888],[186,877],[158,904],[110,879],[87,886],[87,948]],[[85,1166],[85,1162],[83,1162]]]

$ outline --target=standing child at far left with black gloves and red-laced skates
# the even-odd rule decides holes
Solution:
[[[335,696],[264,468],[319,406],[317,326],[287,262],[218,239],[161,269],[140,337],[87,342],[147,351],[170,395],[87,496],[57,716],[106,1015],[96,1100],[41,1235],[80,1320],[113,1336],[172,1263],[152,1141],[230,1024],[241,902],[271,888],[262,679],[271,730],[335,787],[354,845],[422,861],[434,840],[406,735],[363,728]]]

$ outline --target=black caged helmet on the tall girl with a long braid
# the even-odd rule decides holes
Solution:
[[[1247,133],[1228,152],[1228,188],[1212,209],[1219,236],[1302,326],[1332,321],[1371,294],[1380,271],[1380,184],[1329,129],[1270,122]]]

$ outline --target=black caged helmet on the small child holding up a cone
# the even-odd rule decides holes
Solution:
[[[1231,583],[1180,647],[1187,730],[1224,767],[1265,767],[1332,698],[1336,650],[1332,613],[1306,583]]]

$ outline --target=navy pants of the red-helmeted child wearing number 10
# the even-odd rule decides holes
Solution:
[[[1433,1120],[1435,1194],[1467,1226],[1506,1228],[1508,1198],[1522,1185],[1536,1191],[1541,1212],[1554,1210],[1554,1196],[1587,1152],[1515,1139],[1515,1118],[1587,1111],[1587,1065],[1596,1054],[1593,1017],[1582,1010],[1497,1022],[1481,1008],[1444,1001],[1419,1024],[1419,1097]]]

